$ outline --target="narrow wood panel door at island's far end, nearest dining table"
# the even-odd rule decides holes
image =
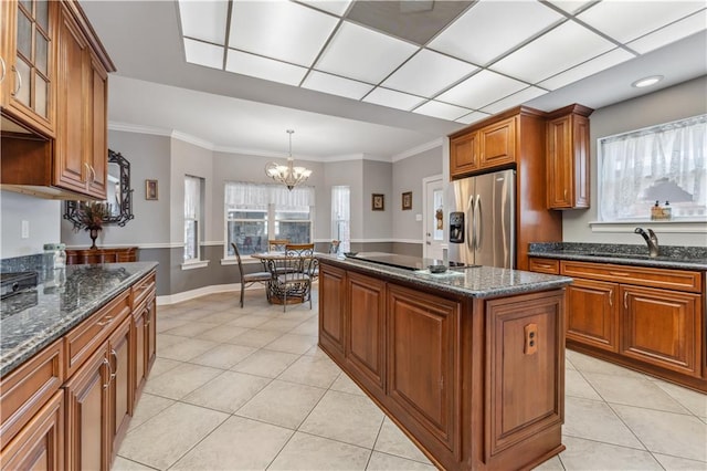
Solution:
[[[319,266],[319,343],[340,362],[344,362],[346,300],[346,272],[323,263]]]

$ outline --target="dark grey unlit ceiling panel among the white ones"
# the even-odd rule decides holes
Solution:
[[[472,1],[357,1],[346,15],[415,44],[423,45]]]

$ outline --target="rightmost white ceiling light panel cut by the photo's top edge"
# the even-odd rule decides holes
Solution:
[[[704,8],[704,1],[602,1],[577,18],[625,43]]]

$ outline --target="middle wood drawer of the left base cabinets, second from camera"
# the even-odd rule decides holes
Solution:
[[[125,290],[105,307],[74,327],[64,337],[66,376],[73,375],[82,363],[106,339],[130,313],[130,291]]]

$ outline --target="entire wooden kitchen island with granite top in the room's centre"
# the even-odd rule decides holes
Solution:
[[[319,346],[437,467],[529,469],[564,449],[571,279],[363,258],[319,257]]]

